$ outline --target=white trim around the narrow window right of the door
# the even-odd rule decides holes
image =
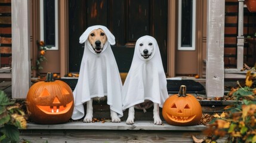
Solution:
[[[194,51],[196,49],[196,0],[193,0],[192,46],[181,46],[181,1],[178,1],[178,50]]]

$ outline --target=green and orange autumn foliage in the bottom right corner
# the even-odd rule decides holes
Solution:
[[[227,105],[223,114],[215,114],[215,119],[206,130],[213,140],[228,135],[227,142],[256,142],[256,88],[253,88],[256,74],[249,70],[245,86],[230,91],[236,98],[234,105]]]

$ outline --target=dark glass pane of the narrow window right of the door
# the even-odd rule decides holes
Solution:
[[[181,3],[181,46],[192,46],[193,1]]]

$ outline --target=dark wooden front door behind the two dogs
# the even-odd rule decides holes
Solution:
[[[84,44],[79,37],[89,26],[104,25],[115,36],[112,46],[120,72],[128,72],[135,42],[144,35],[156,38],[167,69],[167,0],[70,0],[69,71],[79,72]]]

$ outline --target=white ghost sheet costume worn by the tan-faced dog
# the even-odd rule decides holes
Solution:
[[[95,53],[88,41],[88,36],[94,29],[102,29],[107,36],[107,42],[100,54]],[[115,45],[115,36],[110,33],[107,27],[97,25],[88,27],[79,38],[79,42],[85,42],[85,48],[78,83],[73,91],[75,108],[72,119],[78,120],[84,117],[84,102],[94,97],[104,97],[106,95],[110,110],[115,111],[118,117],[122,117],[122,82],[110,47],[110,45]]]

